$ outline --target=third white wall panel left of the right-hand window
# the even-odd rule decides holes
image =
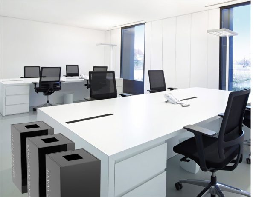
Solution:
[[[191,14],[177,17],[176,21],[176,88],[190,86]]]

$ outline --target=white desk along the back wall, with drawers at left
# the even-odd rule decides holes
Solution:
[[[86,81],[79,77],[61,77],[61,91],[56,91],[49,99],[50,103],[63,103],[64,92],[74,92],[74,101],[83,100],[84,97],[90,97],[90,91],[86,89]],[[10,114],[20,114],[29,112],[29,106],[38,106],[46,103],[46,97],[42,94],[36,94],[34,84],[39,82],[39,78],[16,78],[1,79],[1,103],[0,112],[3,116]],[[116,78],[117,93],[122,93],[122,78]]]

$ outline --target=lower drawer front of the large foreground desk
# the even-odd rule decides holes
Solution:
[[[143,185],[123,195],[123,197],[165,197],[166,196],[166,171],[149,180]]]

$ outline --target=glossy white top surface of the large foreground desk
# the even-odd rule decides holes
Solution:
[[[111,156],[172,133],[224,112],[230,91],[190,88],[172,92],[189,107],[165,103],[163,94],[142,94],[63,106],[39,108],[41,112],[67,127],[103,153]],[[113,114],[76,123],[67,121]]]

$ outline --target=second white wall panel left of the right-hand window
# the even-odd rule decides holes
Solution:
[[[208,11],[191,14],[190,87],[207,87]]]

